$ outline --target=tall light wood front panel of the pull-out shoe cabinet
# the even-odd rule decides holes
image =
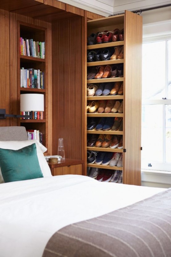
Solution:
[[[124,25],[124,177],[126,184],[141,184],[141,69],[142,17],[125,12]],[[131,64],[131,65],[130,65]]]

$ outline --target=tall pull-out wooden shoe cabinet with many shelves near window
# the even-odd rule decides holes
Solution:
[[[116,60],[88,62],[87,70],[90,66],[106,66],[123,63],[123,77],[106,79],[87,79],[87,84],[123,82],[123,95],[107,96],[87,96],[87,101],[118,100],[123,101],[123,113],[95,113],[87,112],[87,118],[94,117],[122,117],[123,131],[97,131],[95,128],[87,130],[88,134],[110,134],[123,136],[123,149],[87,147],[87,151],[121,152],[123,153],[123,167],[110,165],[97,165],[87,163],[87,167],[100,169],[113,169],[123,171],[123,183],[140,185],[140,126],[141,126],[141,43],[142,43],[142,17],[128,11],[124,15],[91,20],[87,22],[87,36],[91,33],[114,31],[114,29],[124,28],[124,41],[87,45],[87,50],[99,50],[113,48],[115,46],[124,47],[124,58]],[[88,122],[87,122],[88,123]]]

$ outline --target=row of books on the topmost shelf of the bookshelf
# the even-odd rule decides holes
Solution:
[[[20,54],[44,59],[44,42],[20,37]]]

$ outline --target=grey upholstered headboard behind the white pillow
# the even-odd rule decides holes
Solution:
[[[11,126],[0,127],[0,141],[23,141],[28,140],[25,127]]]

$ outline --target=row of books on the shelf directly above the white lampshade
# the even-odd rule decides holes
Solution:
[[[20,69],[21,88],[41,88],[44,89],[44,72],[33,68]]]

